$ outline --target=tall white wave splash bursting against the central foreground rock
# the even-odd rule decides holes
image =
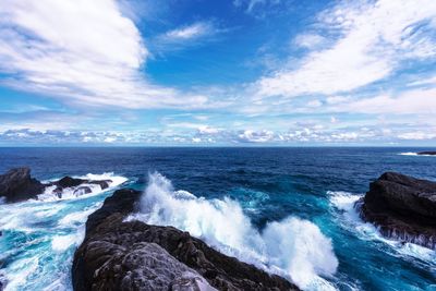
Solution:
[[[335,290],[323,277],[336,272],[338,259],[330,239],[311,221],[288,217],[258,231],[238,202],[174,191],[159,173],[149,174],[141,211],[126,218],[134,219],[189,231],[218,251],[288,277],[305,290]]]

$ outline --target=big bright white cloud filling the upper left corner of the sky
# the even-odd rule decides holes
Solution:
[[[0,5],[2,83],[68,96],[81,105],[202,107],[207,98],[150,84],[135,24],[114,0],[4,0]]]

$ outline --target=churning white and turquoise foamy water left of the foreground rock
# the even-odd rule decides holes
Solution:
[[[126,178],[105,173],[82,179],[112,180],[109,189],[71,198],[31,199],[0,205],[0,280],[8,291],[72,290],[74,248],[85,234],[85,222],[102,204],[96,196],[113,191]]]

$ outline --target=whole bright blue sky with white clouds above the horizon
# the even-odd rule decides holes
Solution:
[[[436,146],[436,1],[2,0],[33,145]]]

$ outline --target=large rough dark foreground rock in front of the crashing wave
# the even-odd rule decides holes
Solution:
[[[208,290],[204,279],[218,290],[298,290],[187,232],[123,222],[140,196],[138,191],[119,190],[88,217],[85,240],[74,254],[74,290]]]

